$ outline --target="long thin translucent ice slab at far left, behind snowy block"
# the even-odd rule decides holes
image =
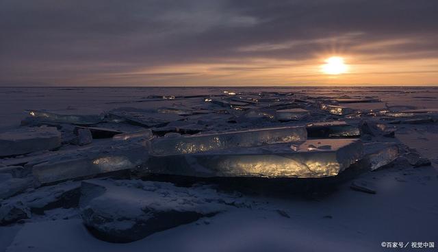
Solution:
[[[30,118],[47,123],[71,123],[76,125],[92,125],[101,123],[102,115],[55,114],[42,110],[28,110]]]

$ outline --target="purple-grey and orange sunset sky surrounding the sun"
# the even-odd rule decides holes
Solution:
[[[0,0],[0,36],[0,86],[438,85],[436,0]]]

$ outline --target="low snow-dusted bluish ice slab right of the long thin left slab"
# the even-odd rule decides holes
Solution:
[[[118,108],[108,113],[113,121],[126,121],[142,127],[162,127],[171,121],[182,119],[177,114],[159,113],[155,110],[140,110],[138,108]]]

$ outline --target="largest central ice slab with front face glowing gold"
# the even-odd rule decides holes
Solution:
[[[362,143],[316,139],[179,155],[152,155],[147,173],[194,177],[329,177],[360,160]]]

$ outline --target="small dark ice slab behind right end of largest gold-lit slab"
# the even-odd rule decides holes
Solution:
[[[307,137],[309,138],[348,138],[361,136],[358,127],[344,121],[309,123],[306,128]]]

